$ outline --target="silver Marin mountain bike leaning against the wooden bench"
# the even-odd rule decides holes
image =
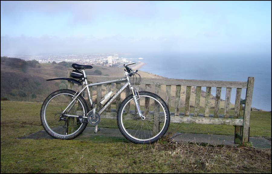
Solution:
[[[133,64],[135,62],[124,64],[125,78],[112,81],[88,84],[84,70],[92,68],[92,66],[79,64],[72,64],[75,69],[71,73],[73,78],[47,79],[47,81],[68,80],[75,84],[82,84],[83,89],[77,92],[60,89],[47,96],[40,110],[40,119],[45,131],[53,138],[68,140],[80,135],[89,123],[95,126],[96,133],[100,130],[98,129],[100,115],[128,87],[131,94],[122,101],[117,112],[119,130],[125,138],[136,144],[149,144],[159,140],[167,132],[170,124],[169,109],[160,96],[147,91],[138,91],[133,86],[141,81],[141,76],[137,73],[138,70],[133,71],[128,67]],[[131,76],[136,77],[135,83],[134,81],[130,82],[129,77]],[[139,80],[137,76],[139,76]],[[126,83],[113,96],[111,96],[113,91],[106,94],[100,101],[104,106],[97,112],[96,102],[92,101],[89,87],[117,82]],[[90,101],[90,110],[82,96],[86,89]]]

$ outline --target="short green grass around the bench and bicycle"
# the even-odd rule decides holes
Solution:
[[[239,148],[214,147],[161,140],[142,145],[118,138],[111,141],[103,138],[97,141],[16,139],[43,130],[41,104],[1,101],[1,173],[271,172],[271,150],[259,151],[245,145]],[[271,112],[251,113],[250,131],[255,133],[250,134],[271,137]],[[99,126],[107,122],[112,120],[102,120]],[[111,126],[115,125],[116,120],[113,120]],[[199,126],[184,125],[182,129],[208,133],[208,130],[212,132],[224,125],[207,130]],[[234,127],[228,127],[232,134]]]

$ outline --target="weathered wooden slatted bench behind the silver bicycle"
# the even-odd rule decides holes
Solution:
[[[71,70],[72,71],[72,70]],[[68,77],[70,77],[70,72],[68,72]],[[71,78],[71,77],[70,77]],[[115,79],[120,79],[123,77],[112,77],[112,76],[92,76],[87,75],[88,83],[110,81]],[[206,81],[206,80],[185,80],[185,79],[169,79],[169,78],[141,78],[141,84],[145,85],[146,91],[150,91],[151,85],[155,86],[154,93],[161,96],[161,85],[166,85],[165,89],[165,102],[170,107],[171,106],[171,97],[175,98],[175,109],[174,112],[170,112],[170,120],[173,123],[195,123],[195,124],[215,124],[215,125],[234,125],[235,126],[235,140],[236,144],[241,142],[248,142],[249,136],[249,119],[251,112],[251,101],[252,93],[254,86],[254,78],[248,77],[248,81],[238,82],[238,81]],[[121,83],[116,83],[116,91],[121,89]],[[142,85],[143,86],[143,85]],[[175,96],[171,96],[171,87],[176,87]],[[185,100],[185,109],[184,112],[180,112],[180,91],[181,87],[186,87],[186,100]],[[140,90],[140,84],[135,85],[135,87]],[[192,87],[196,87],[195,92],[195,105],[194,113],[189,113],[190,109],[190,95]],[[206,87],[206,98],[205,98],[205,107],[204,113],[199,113],[199,103],[201,96],[201,87]],[[214,104],[214,113],[209,114],[210,110],[210,96],[211,88],[216,87],[216,96]],[[73,83],[68,82],[68,88],[73,89]],[[226,98],[225,98],[225,107],[224,114],[219,114],[219,104],[221,101],[221,90],[226,88]],[[236,88],[236,99],[234,107],[234,115],[229,115],[230,110],[230,98],[232,88]],[[241,100],[242,88],[246,89],[245,100]],[[82,89],[82,85],[79,85],[79,89]],[[112,90],[112,84],[107,84],[106,91],[108,93]],[[92,88],[90,88],[92,96]],[[96,89],[97,101],[102,99],[102,85],[97,85]],[[130,95],[130,90],[126,89],[126,96]],[[87,95],[86,95],[87,96]],[[93,98],[93,96],[92,96]],[[164,97],[162,97],[164,98]],[[119,96],[116,99],[116,108],[120,106],[122,100]],[[89,102],[88,102],[89,103]],[[244,112],[242,113],[242,106],[244,105]],[[101,104],[97,102],[97,108],[100,110],[102,108]],[[107,119],[116,119],[116,110],[111,109],[109,106],[108,109],[101,115],[101,118]]]

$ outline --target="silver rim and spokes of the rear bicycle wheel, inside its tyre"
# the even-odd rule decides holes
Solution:
[[[54,136],[67,137],[72,134],[75,134],[80,130],[83,126],[83,123],[80,123],[77,118],[69,118],[67,128],[63,128],[62,126],[65,124],[65,121],[60,120],[60,112],[63,111],[66,106],[71,102],[72,94],[70,93],[61,93],[56,96],[53,96],[46,104],[44,108],[44,122],[47,128],[54,134]],[[70,100],[70,101],[69,101]],[[82,110],[76,107],[81,106]],[[76,113],[76,114],[73,114]],[[83,103],[80,100],[77,100],[74,104],[73,108],[70,110],[69,114],[71,115],[83,115],[85,113],[85,109],[83,107]],[[68,113],[67,113],[68,114]]]

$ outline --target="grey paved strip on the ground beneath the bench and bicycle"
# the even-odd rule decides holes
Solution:
[[[174,141],[182,142],[183,144],[192,143],[209,143],[213,145],[227,145],[231,147],[236,147],[237,144],[234,144],[234,136],[232,135],[213,135],[213,134],[190,134],[190,133],[175,133],[173,134]],[[18,139],[53,139],[46,131],[38,131],[36,133],[18,138]],[[99,139],[105,140],[109,139],[118,139],[118,141],[125,141],[126,138],[121,134],[119,129],[112,128],[101,128],[101,131],[94,133],[94,127],[86,127],[85,131],[76,137],[74,140],[92,140],[96,141]],[[254,147],[261,149],[271,149],[271,141],[265,138],[250,137],[249,141],[252,142]]]

